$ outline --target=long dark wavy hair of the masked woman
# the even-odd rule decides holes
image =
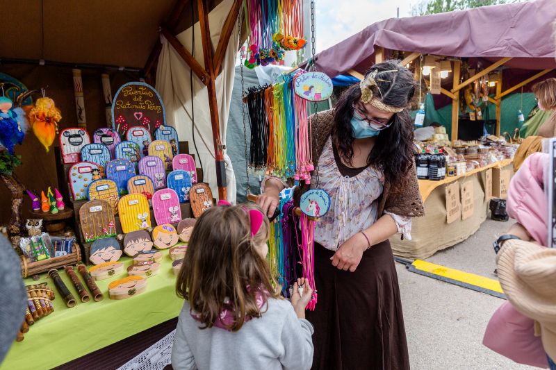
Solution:
[[[398,60],[386,60],[371,67],[367,74],[378,71],[375,78],[377,86],[372,89],[373,97],[389,106],[409,108],[409,102],[415,93],[416,81],[409,69],[398,63]],[[343,92],[334,108],[336,124],[332,131],[332,140],[343,160],[349,165],[352,163],[354,142],[350,126],[353,116],[352,105],[360,98],[361,89],[357,83]],[[378,135],[367,162],[382,169],[393,190],[400,190],[414,161],[413,121],[408,109],[394,113],[392,119],[391,126]]]

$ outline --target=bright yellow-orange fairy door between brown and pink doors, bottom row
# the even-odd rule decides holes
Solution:
[[[142,194],[127,194],[118,203],[120,223],[124,234],[151,228],[149,201]]]

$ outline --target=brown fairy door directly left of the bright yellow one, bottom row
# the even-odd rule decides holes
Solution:
[[[107,201],[97,199],[83,204],[79,208],[79,222],[86,243],[116,236],[114,212]]]

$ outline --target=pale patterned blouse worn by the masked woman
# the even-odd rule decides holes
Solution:
[[[357,176],[342,176],[334,159],[332,137],[327,140],[318,167],[318,187],[328,192],[331,203],[328,213],[315,223],[315,242],[336,251],[347,239],[377,221],[377,199],[382,194],[384,174],[369,166]],[[311,187],[316,187],[314,172]],[[411,218],[384,213],[394,219],[398,233],[411,240]]]

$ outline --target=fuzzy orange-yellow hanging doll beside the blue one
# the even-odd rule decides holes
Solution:
[[[58,134],[58,122],[62,119],[62,113],[56,108],[54,100],[47,97],[37,99],[35,106],[28,106],[26,109],[33,133],[48,153]]]

